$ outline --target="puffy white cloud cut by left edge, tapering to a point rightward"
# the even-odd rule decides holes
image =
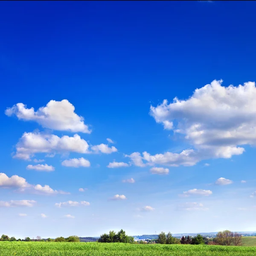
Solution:
[[[61,190],[54,190],[48,185],[32,185],[29,184],[23,177],[13,175],[8,177],[5,173],[0,173],[0,187],[3,188],[16,188],[19,192],[31,192],[41,195],[53,195],[53,194],[70,194]]]

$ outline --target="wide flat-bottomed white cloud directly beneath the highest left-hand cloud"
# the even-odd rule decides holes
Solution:
[[[90,153],[89,145],[78,134],[73,137],[67,135],[58,137],[54,134],[25,132],[16,145],[14,158],[30,160],[35,153]]]

